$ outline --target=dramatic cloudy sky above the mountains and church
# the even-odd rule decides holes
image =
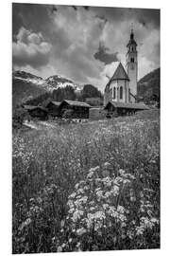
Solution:
[[[160,10],[13,4],[13,69],[103,90],[114,63],[125,64],[131,23],[140,79],[160,66]]]

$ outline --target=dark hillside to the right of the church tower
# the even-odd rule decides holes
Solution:
[[[160,67],[148,73],[138,82],[139,99],[145,102],[160,102]]]

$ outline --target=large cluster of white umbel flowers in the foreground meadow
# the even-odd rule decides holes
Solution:
[[[91,237],[95,244],[101,234],[105,233],[106,239],[112,234],[115,237],[111,242],[113,247],[118,237],[132,240],[159,223],[153,217],[152,205],[144,198],[143,192],[138,199],[138,208],[134,208],[137,201],[137,193],[133,188],[135,176],[124,170],[119,170],[117,176],[109,175],[106,169],[110,169],[108,162],[102,167],[91,168],[86,179],[76,183],[75,191],[68,198],[65,225],[70,229],[70,239],[72,236],[79,237],[81,250],[85,237]],[[61,232],[64,232],[64,227]],[[64,242],[60,246],[63,251],[68,247],[76,249],[76,244],[71,242]]]

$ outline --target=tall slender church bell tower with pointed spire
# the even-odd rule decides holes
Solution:
[[[137,80],[138,80],[138,54],[137,44],[134,40],[133,28],[131,28],[130,39],[127,44],[127,75],[129,78],[130,93],[133,96],[137,94]],[[130,97],[131,102],[135,102],[134,97]]]

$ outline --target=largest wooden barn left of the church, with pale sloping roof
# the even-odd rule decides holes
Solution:
[[[70,112],[72,119],[89,119],[90,107],[86,102],[64,100],[59,104],[59,116],[64,117],[66,113]]]

